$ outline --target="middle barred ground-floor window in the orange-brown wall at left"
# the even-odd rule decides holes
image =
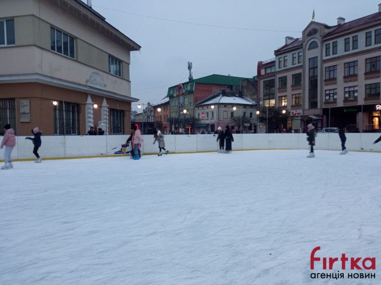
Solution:
[[[54,135],[79,135],[79,104],[58,101],[54,106]]]

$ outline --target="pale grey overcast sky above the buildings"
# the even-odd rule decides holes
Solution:
[[[348,22],[378,12],[379,3],[381,0],[92,0],[92,7],[141,46],[131,53],[131,96],[140,103],[157,103],[168,87],[188,81],[188,61],[194,79],[211,74],[253,77],[257,62],[274,57],[274,49],[284,45],[286,36],[301,37],[314,9],[315,21],[333,26],[339,16]]]

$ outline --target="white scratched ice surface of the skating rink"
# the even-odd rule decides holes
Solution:
[[[326,271],[310,254],[380,258],[381,153],[307,154],[14,162],[0,171],[0,284],[380,284],[378,269],[311,279]]]

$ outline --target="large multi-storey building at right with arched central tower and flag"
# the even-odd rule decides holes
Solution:
[[[287,37],[274,54],[258,62],[259,97],[265,106],[286,108],[289,127],[380,129],[381,4],[374,14],[339,17],[334,26],[312,21],[302,38]]]

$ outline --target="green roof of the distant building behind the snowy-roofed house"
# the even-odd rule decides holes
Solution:
[[[238,86],[238,85],[241,85],[241,81],[243,79],[249,79],[250,80],[252,78],[212,74],[212,75],[204,76],[201,78],[193,79],[192,81],[187,81],[187,82],[182,83],[182,84],[184,87],[184,92],[185,92],[185,94],[187,94],[187,93],[193,92],[194,85],[196,83]],[[173,96],[175,87],[177,87],[177,86],[178,86],[178,84],[168,88],[167,97]]]

